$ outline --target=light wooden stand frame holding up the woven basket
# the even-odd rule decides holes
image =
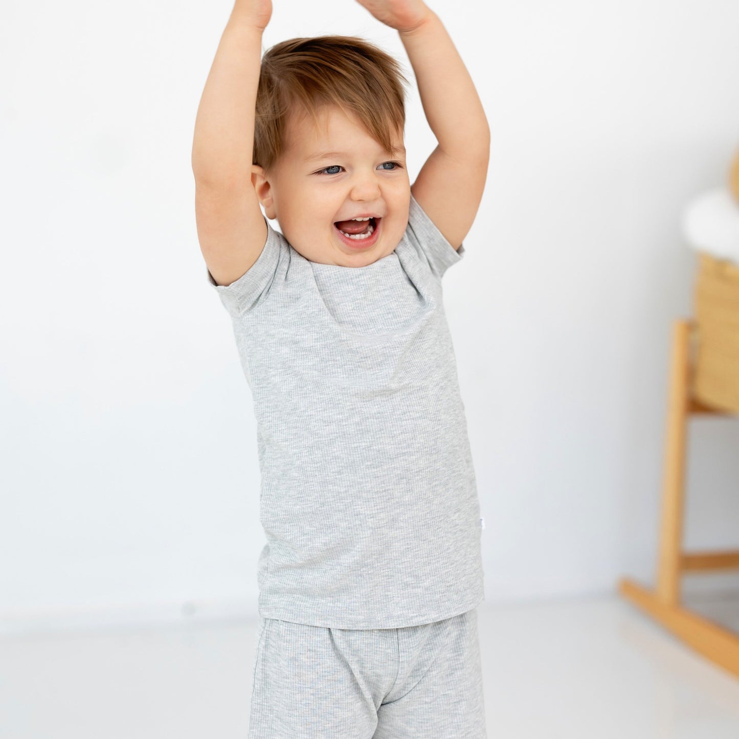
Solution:
[[[692,397],[691,340],[696,328],[691,319],[678,319],[672,327],[657,586],[644,588],[621,579],[619,593],[689,647],[739,677],[739,635],[681,603],[683,573],[739,568],[739,550],[687,553],[682,549],[688,421],[694,414],[734,415],[708,408]]]

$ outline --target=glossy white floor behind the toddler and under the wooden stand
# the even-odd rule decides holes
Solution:
[[[696,607],[739,627],[739,599]],[[483,604],[479,623],[490,739],[739,738],[739,679],[615,596]],[[4,638],[0,737],[245,739],[255,627]]]

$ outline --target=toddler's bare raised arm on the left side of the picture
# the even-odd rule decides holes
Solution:
[[[271,0],[236,0],[197,109],[197,234],[219,285],[230,285],[251,268],[267,240],[251,172],[262,31],[271,12]]]

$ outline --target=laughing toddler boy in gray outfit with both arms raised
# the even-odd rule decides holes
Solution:
[[[236,1],[195,123],[198,237],[253,396],[268,541],[249,737],[477,739],[480,506],[441,279],[490,134],[435,13],[358,1],[400,33],[437,138],[413,185],[398,63],[344,36],[261,58],[269,0]]]

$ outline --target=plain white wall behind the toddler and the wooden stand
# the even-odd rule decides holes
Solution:
[[[486,599],[650,580],[671,321],[692,312],[696,266],[679,217],[726,180],[739,146],[739,5],[429,3],[493,137],[466,259],[445,277]],[[9,7],[4,627],[169,618],[188,603],[254,609],[265,541],[255,421],[205,279],[190,169],[231,3]],[[265,44],[321,33],[402,54],[351,0],[276,0]],[[406,141],[414,176],[433,146],[417,95]],[[738,426],[693,423],[688,545],[738,542]]]

